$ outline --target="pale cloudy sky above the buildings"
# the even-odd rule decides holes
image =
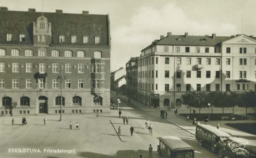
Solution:
[[[0,0],[0,6],[13,11],[109,14],[111,71],[125,67],[130,57],[140,56],[167,32],[256,36],[256,0]]]

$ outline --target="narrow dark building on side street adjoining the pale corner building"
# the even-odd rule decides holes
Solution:
[[[131,57],[126,63],[126,95],[134,100],[138,100],[138,59]]]

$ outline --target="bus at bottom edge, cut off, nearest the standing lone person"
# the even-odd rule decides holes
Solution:
[[[194,148],[175,136],[159,138],[162,158],[194,158]]]

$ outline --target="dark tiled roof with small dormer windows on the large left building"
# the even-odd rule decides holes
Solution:
[[[33,44],[33,22],[42,16],[41,12],[0,11],[0,43]],[[108,15],[43,13],[52,24],[52,45],[109,45]],[[6,41],[11,33],[13,40]],[[26,35],[25,42],[19,42],[19,34]],[[59,43],[59,35],[65,36],[65,43]],[[71,36],[77,36],[77,43],[71,43]],[[83,35],[89,36],[89,43],[83,43]],[[94,37],[100,36],[100,43]]]

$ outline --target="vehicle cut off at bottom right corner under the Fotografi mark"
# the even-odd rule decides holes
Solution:
[[[256,140],[229,137],[226,146],[220,149],[218,154],[227,158],[255,158]]]

